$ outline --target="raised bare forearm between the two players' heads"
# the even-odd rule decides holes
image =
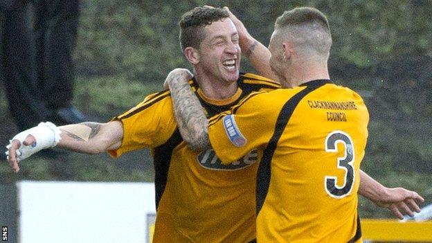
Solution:
[[[253,38],[246,27],[244,27],[242,21],[237,19],[227,7],[224,7],[224,9],[228,11],[231,21],[233,21],[235,28],[237,28],[242,53],[246,55],[253,68],[258,71],[260,75],[278,81],[277,76],[270,68],[269,60],[271,53],[269,49]]]

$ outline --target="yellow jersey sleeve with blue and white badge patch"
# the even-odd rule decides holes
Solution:
[[[270,140],[276,118],[268,98],[267,92],[251,93],[230,112],[209,120],[210,143],[222,163],[237,161]]]

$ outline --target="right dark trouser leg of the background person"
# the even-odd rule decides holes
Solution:
[[[79,8],[78,0],[34,1],[37,87],[52,109],[68,107],[73,98]]]

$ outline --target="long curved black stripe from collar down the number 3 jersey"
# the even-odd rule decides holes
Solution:
[[[289,118],[296,109],[300,100],[302,100],[308,93],[318,89],[324,84],[330,83],[330,80],[314,80],[303,84],[302,86],[307,86],[306,89],[296,93],[293,97],[291,97],[285,105],[283,105],[280,113],[278,115],[278,119],[276,120],[276,127],[273,132],[273,136],[266,148],[264,149],[264,154],[262,155],[262,159],[260,165],[258,167],[258,175],[257,175],[257,184],[256,184],[256,211],[257,215],[260,213],[262,205],[264,204],[264,200],[267,197],[267,192],[269,191],[270,177],[271,177],[271,159],[273,159],[273,154],[276,150],[276,145],[278,145],[278,141],[280,136],[282,136],[285,127],[288,124]]]

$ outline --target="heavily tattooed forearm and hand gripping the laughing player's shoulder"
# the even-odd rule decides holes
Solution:
[[[188,80],[192,73],[187,69],[174,69],[165,80],[165,87],[171,91],[172,109],[183,140],[191,150],[199,151],[210,147],[208,120],[197,96],[190,89]]]

